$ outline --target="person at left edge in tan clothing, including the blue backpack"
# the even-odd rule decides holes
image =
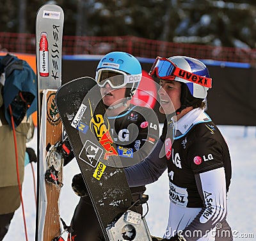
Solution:
[[[20,206],[25,162],[36,161],[34,150],[26,147],[34,134],[34,111],[35,72],[12,54],[0,56],[0,240]]]

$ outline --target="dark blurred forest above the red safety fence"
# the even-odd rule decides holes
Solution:
[[[256,48],[255,0],[0,0],[0,32],[35,33],[45,3],[63,8],[64,35]]]

